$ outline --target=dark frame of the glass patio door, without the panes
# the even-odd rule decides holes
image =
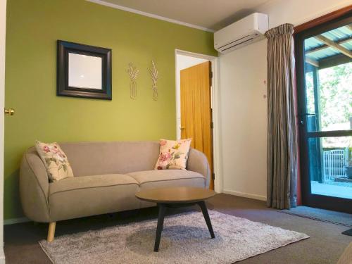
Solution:
[[[352,213],[352,207],[348,205],[352,203],[351,199],[344,199],[333,196],[323,196],[319,194],[311,194],[309,161],[308,161],[308,139],[320,137],[343,137],[350,136],[351,131],[320,131],[307,132],[306,129],[306,82],[304,70],[304,39],[315,36],[322,32],[332,30],[339,25],[351,20],[351,13],[341,15],[338,18],[324,21],[319,25],[308,27],[294,35],[295,42],[295,58],[296,58],[296,85],[297,85],[297,102],[298,102],[298,123],[299,125],[299,149],[301,161],[301,190],[303,206],[312,206],[317,208],[325,208],[329,210],[339,210],[346,213]],[[326,25],[329,23],[329,25]]]

